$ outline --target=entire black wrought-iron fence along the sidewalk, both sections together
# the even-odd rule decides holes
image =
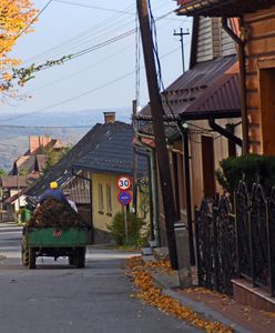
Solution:
[[[234,212],[233,212],[234,211]],[[246,278],[275,295],[275,189],[251,193],[241,181],[230,200],[203,200],[195,209],[198,284],[232,294],[231,280]]]

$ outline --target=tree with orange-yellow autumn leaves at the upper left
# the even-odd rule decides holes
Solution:
[[[21,34],[33,31],[29,26],[37,12],[31,0],[0,1],[0,93],[2,97],[14,93],[12,91],[13,69],[21,63],[20,59],[10,58],[9,53]]]

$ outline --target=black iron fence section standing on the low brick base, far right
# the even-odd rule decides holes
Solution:
[[[235,193],[238,273],[275,295],[275,189],[266,198],[261,184]]]

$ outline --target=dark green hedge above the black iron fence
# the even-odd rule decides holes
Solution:
[[[247,189],[257,180],[268,192],[275,185],[275,157],[249,154],[223,160],[216,171],[218,183],[233,195],[240,180],[245,179]]]

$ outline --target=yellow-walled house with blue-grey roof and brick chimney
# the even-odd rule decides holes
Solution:
[[[115,114],[105,114],[99,143],[73,163],[78,171],[89,172],[92,183],[92,211],[94,236],[98,242],[110,240],[110,225],[114,214],[122,210],[118,195],[118,178],[133,176],[133,127],[115,121]],[[139,159],[138,175],[146,174],[144,158]],[[129,190],[133,195],[133,186]],[[138,195],[138,202],[140,196]],[[132,204],[130,204],[130,209]],[[138,213],[142,213],[139,209]]]

